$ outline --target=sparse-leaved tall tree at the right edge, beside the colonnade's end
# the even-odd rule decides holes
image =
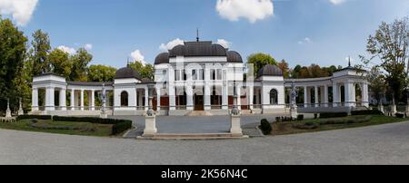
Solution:
[[[366,51],[371,57],[360,56],[361,60],[368,65],[375,58],[379,59],[394,100],[400,99],[409,72],[409,17],[396,19],[392,24],[383,22],[374,35],[369,35],[367,42]]]

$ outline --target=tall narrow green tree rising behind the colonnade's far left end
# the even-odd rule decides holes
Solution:
[[[33,41],[31,42],[31,60],[33,62],[33,74],[38,75],[45,72],[51,72],[51,64],[47,56],[50,53],[50,39],[48,34],[41,30],[35,31]]]

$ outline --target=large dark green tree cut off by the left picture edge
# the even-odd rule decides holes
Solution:
[[[0,17],[0,110],[5,111],[6,99],[10,99],[11,107],[17,106],[20,72],[24,66],[27,38],[9,19]]]

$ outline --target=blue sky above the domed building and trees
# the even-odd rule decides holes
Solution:
[[[0,0],[0,14],[12,18],[26,35],[42,29],[50,35],[53,47],[78,49],[92,44],[91,64],[117,68],[125,66],[126,58],[136,50],[145,62],[153,63],[163,52],[162,43],[176,38],[195,40],[196,27],[201,40],[224,39],[244,58],[250,53],[270,53],[293,67],[346,65],[345,58],[351,55],[358,63],[367,36],[382,21],[409,15],[409,0],[281,0],[273,1],[272,12],[266,7],[269,0],[245,5],[244,10],[233,4],[216,8],[217,0],[15,1],[35,4],[33,14],[23,14],[29,19],[15,15],[18,5],[10,0]]]

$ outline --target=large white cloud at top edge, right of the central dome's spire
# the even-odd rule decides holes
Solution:
[[[250,23],[274,15],[271,0],[217,0],[216,10],[227,20],[238,21],[245,18]]]

